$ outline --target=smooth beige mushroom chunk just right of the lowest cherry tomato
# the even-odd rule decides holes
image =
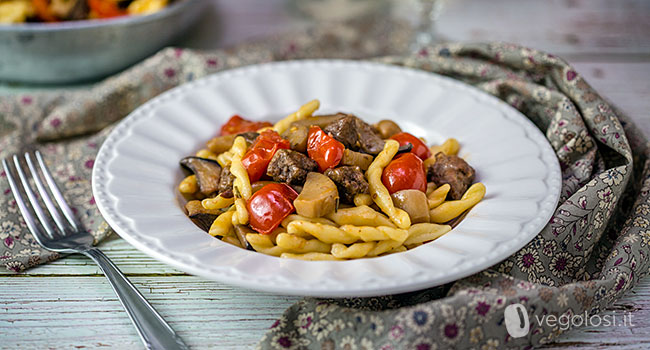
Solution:
[[[293,205],[298,215],[318,218],[335,211],[338,201],[339,192],[334,182],[321,173],[310,172]]]

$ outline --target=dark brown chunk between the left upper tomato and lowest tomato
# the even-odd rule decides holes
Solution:
[[[277,182],[302,185],[307,173],[316,171],[318,163],[306,155],[289,149],[280,149],[271,159],[266,174]]]

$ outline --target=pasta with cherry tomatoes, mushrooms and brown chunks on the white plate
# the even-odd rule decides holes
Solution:
[[[347,260],[433,241],[483,199],[456,139],[429,147],[394,121],[314,115],[319,106],[275,124],[232,116],[183,158],[178,190],[192,221],[244,249]]]

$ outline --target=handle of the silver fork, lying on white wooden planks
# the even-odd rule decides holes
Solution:
[[[82,253],[102,269],[147,349],[189,349],[104,253],[97,248]]]

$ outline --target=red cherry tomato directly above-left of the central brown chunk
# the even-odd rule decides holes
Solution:
[[[241,160],[250,181],[255,182],[261,179],[266,174],[266,168],[275,152],[279,149],[289,149],[290,146],[289,141],[280,137],[277,132],[264,130]]]

